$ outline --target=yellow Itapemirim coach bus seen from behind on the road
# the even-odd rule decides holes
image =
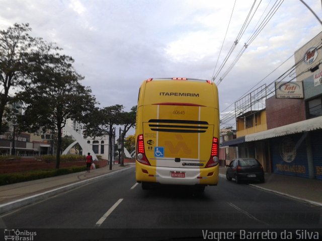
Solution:
[[[210,80],[144,80],[135,130],[136,181],[194,185],[203,191],[219,175],[219,104]]]

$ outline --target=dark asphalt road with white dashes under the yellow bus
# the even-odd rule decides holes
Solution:
[[[206,187],[199,195],[178,186],[142,190],[135,182],[134,171],[131,168],[7,213],[0,217],[0,228],[303,229],[322,226],[321,208],[247,184],[220,178],[218,186]]]

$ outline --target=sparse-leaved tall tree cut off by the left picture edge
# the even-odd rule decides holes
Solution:
[[[58,49],[41,38],[29,36],[30,31],[29,24],[14,24],[0,31],[0,131],[3,131],[4,118],[11,114],[6,105],[15,101],[10,96],[10,90],[28,81],[28,74],[33,70],[31,66],[41,58],[39,52]]]

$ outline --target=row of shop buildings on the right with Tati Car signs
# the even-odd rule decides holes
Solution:
[[[294,87],[284,88],[291,95],[265,98],[260,112],[265,112],[267,129],[250,128],[250,118],[240,115],[237,139],[223,145],[237,145],[240,157],[257,158],[268,172],[322,180],[321,39],[322,32],[295,52],[296,81],[285,83]],[[302,97],[292,96],[296,86],[302,86]]]

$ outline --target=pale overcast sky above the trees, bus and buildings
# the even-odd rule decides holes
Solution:
[[[257,11],[215,83],[275,2],[256,1]],[[305,2],[322,19],[321,1]],[[75,59],[76,71],[85,76],[83,85],[91,87],[101,107],[123,104],[128,111],[136,105],[138,88],[144,79],[213,77],[254,1],[237,0],[235,6],[234,3],[234,0],[0,0],[0,29],[14,23],[29,23],[32,36],[55,42],[64,54]],[[220,111],[321,31],[321,24],[299,0],[285,0],[218,85]],[[261,84],[273,82],[293,64],[294,57]]]

